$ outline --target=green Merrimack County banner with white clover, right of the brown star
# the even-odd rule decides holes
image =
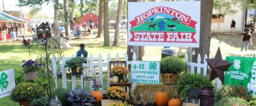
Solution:
[[[225,85],[241,85],[256,95],[256,58],[227,56],[232,65],[225,71]]]

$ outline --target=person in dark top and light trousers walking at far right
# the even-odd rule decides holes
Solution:
[[[252,35],[251,35],[251,29],[247,29],[246,32],[242,36],[242,44],[241,44],[241,51],[243,51],[243,48],[245,47],[245,51],[248,50],[249,43],[252,46]]]

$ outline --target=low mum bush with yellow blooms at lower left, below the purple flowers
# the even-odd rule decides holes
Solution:
[[[26,102],[45,96],[42,86],[37,83],[20,83],[12,90],[11,99],[15,102]]]

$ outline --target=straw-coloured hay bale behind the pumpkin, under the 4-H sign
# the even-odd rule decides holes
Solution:
[[[155,103],[155,94],[158,91],[162,91],[162,88],[164,88],[164,91],[169,93],[170,97],[177,95],[177,91],[174,86],[148,84],[137,84],[134,88],[133,95],[135,95],[137,99],[140,94],[143,94],[144,101],[148,103]]]

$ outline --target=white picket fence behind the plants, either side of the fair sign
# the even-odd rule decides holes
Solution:
[[[74,55],[71,56],[71,58],[74,58]],[[67,80],[69,80],[67,78],[67,73],[66,73],[66,68],[64,67],[66,64],[67,59],[71,59],[71,58],[65,58],[65,56],[62,56],[62,59],[60,60],[62,62],[60,69],[62,70],[62,88],[67,88]],[[103,85],[103,67],[107,67],[107,87],[109,87],[109,61],[111,61],[111,55],[108,53],[107,59],[103,59],[102,55],[99,54],[97,57],[97,61],[93,61],[94,56],[92,54],[90,54],[89,58],[89,62],[88,63],[84,63],[83,66],[84,67],[89,67],[91,72],[95,72],[94,67],[98,67],[98,75],[101,81],[101,84]],[[133,53],[132,56],[133,60],[136,60],[136,54]],[[207,59],[207,56],[205,55],[205,59]],[[119,54],[117,53],[115,56],[115,60],[119,60]],[[128,56],[127,54],[124,55],[124,60],[126,61],[126,67],[128,67],[129,64],[131,64],[131,61],[128,61]],[[57,84],[57,64],[56,64],[56,59],[54,57],[51,58],[52,61],[52,69],[53,69],[53,76],[55,76],[54,78],[54,83],[55,83],[55,88],[58,88],[60,86],[58,86]],[[187,53],[185,54],[185,61],[188,63],[188,66],[190,67],[190,74],[201,74],[201,69],[203,70],[203,76],[206,76],[207,73],[207,63],[206,60],[204,60],[204,64],[202,64],[201,62],[201,56],[200,54],[198,54],[198,58],[197,61],[198,63],[194,63],[194,62],[188,62],[188,55]],[[196,67],[196,70],[195,70]],[[85,73],[83,74],[85,75]],[[81,88],[84,88],[83,86],[83,75],[81,75]],[[71,89],[74,89],[76,87],[76,76],[71,76]],[[213,83],[214,81],[212,81]],[[214,84],[214,83],[213,83]],[[86,85],[86,81],[84,81],[84,85]],[[92,88],[93,85],[93,81],[90,81],[90,90],[93,90]],[[103,85],[106,86],[106,85]],[[133,87],[135,86],[135,84],[133,84]],[[217,88],[220,88],[221,86],[221,81],[219,80],[219,78],[217,79]],[[99,88],[100,91],[102,91],[103,93],[105,93],[106,91],[103,91],[103,88]]]

